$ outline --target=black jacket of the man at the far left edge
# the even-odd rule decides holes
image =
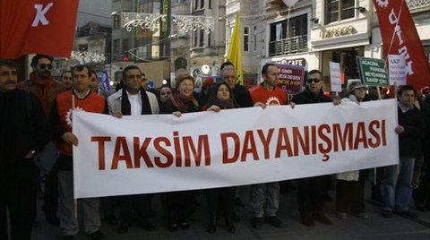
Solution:
[[[47,116],[36,95],[24,90],[0,93],[0,161],[22,159],[49,140]]]

